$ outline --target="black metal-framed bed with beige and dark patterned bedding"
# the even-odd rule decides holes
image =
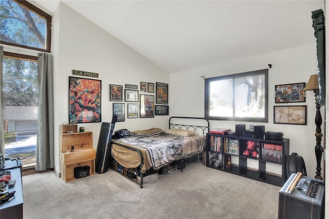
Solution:
[[[111,162],[129,170],[139,169],[139,184],[143,188],[145,172],[202,153],[208,131],[209,121],[205,118],[170,117],[168,130],[152,128],[132,132],[131,137],[113,139]]]

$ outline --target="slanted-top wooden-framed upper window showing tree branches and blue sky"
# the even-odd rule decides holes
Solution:
[[[50,52],[51,16],[26,1],[0,2],[0,43]]]

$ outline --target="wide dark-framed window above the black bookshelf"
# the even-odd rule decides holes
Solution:
[[[267,122],[268,70],[205,80],[205,117],[210,120]]]

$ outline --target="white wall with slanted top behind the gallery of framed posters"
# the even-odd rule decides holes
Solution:
[[[54,147],[55,169],[59,173],[59,127],[68,122],[68,77],[72,76],[72,69],[99,74],[98,80],[102,81],[102,122],[111,122],[113,115],[113,102],[109,101],[108,96],[109,84],[123,87],[124,84],[137,84],[140,88],[141,81],[169,83],[169,74],[62,2],[53,15],[53,32]],[[151,127],[167,129],[168,118],[126,117],[125,122],[116,123],[115,130],[126,128],[135,131]],[[93,144],[97,148],[101,123],[83,123],[78,126],[93,131]]]

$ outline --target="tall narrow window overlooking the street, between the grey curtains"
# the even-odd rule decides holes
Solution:
[[[8,52],[4,56],[5,155],[20,158],[23,167],[35,165],[38,129],[37,59]]]

